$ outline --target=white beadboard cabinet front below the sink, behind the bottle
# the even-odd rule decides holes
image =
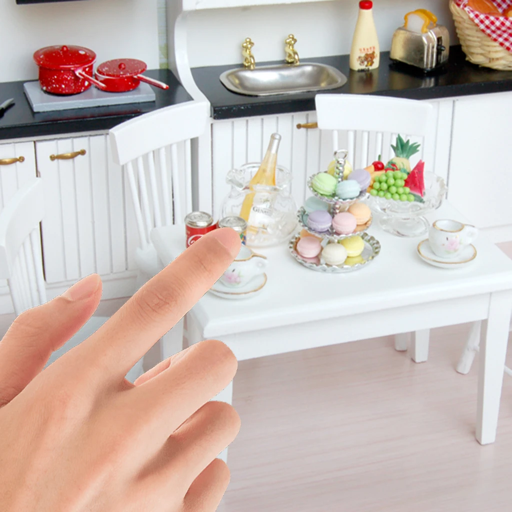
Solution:
[[[449,105],[452,102],[448,102]],[[445,123],[451,117],[451,106],[443,106],[432,102],[435,109],[436,124],[438,124],[437,139],[442,141],[439,159],[436,159],[437,140],[425,141],[422,137],[407,136],[413,142],[421,144],[419,153],[411,158],[415,165],[419,159],[427,162],[433,168],[439,160],[439,174],[447,178],[447,157],[449,152],[450,130]],[[442,118],[439,117],[440,112]],[[297,129],[297,123],[315,122],[315,112],[283,114],[279,116],[250,117],[214,121],[212,124],[212,197],[214,216],[220,214],[221,205],[229,193],[226,175],[232,168],[237,168],[246,162],[261,161],[266,150],[270,134],[279,132],[282,135],[278,153],[278,164],[291,170],[293,176],[292,194],[297,204],[302,204],[309,196],[307,180],[314,173],[327,169],[333,159],[333,133],[330,130]],[[446,130],[446,128],[448,128]],[[382,138],[382,159],[387,161],[393,156],[391,144],[397,134],[385,133]],[[367,137],[367,139],[366,139]],[[354,168],[365,167],[378,156],[377,134],[362,132],[349,134],[338,132],[340,148],[349,150],[349,161]],[[444,162],[444,165],[441,165]],[[430,164],[430,165],[429,165]],[[435,170],[435,169],[433,169]]]

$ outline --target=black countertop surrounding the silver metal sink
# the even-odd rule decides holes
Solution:
[[[349,68],[349,56],[318,57],[304,62],[322,62],[344,73],[348,82],[330,94],[378,94],[411,99],[434,99],[471,94],[512,91],[512,72],[494,71],[475,66],[465,60],[460,46],[450,48],[449,62],[444,72],[423,75],[400,67],[389,58],[389,52],[380,54],[380,67],[369,72],[354,72]],[[257,62],[260,65],[279,62]],[[228,91],[220,82],[222,72],[240,67],[212,66],[192,70],[194,79],[211,103],[214,119],[264,116],[289,112],[315,110],[317,92],[279,96],[243,96]]]

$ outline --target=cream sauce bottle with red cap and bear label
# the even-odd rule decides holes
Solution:
[[[367,71],[379,67],[379,41],[373,22],[372,8],[371,0],[359,2],[359,16],[350,50],[350,69],[354,71]]]

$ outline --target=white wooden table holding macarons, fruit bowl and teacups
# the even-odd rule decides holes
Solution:
[[[446,203],[430,216],[443,218],[464,222]],[[484,320],[476,438],[494,442],[512,311],[512,261],[481,236],[470,265],[436,268],[416,253],[426,237],[398,238],[376,224],[369,234],[380,241],[380,254],[351,273],[309,270],[293,260],[285,244],[258,250],[269,260],[260,295],[228,301],[207,293],[187,315],[188,345],[221,339],[244,360],[415,332],[411,354],[419,362],[428,356],[430,329]],[[157,228],[152,240],[168,263],[184,249],[184,227]],[[221,395],[231,403],[232,385]]]

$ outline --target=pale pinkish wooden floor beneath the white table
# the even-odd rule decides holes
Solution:
[[[512,255],[512,243],[502,248]],[[11,321],[1,315],[0,330]],[[454,369],[468,329],[434,330],[419,365],[390,337],[242,361],[233,393],[242,429],[219,512],[512,510],[512,377],[498,439],[480,446],[478,356],[470,374]]]

